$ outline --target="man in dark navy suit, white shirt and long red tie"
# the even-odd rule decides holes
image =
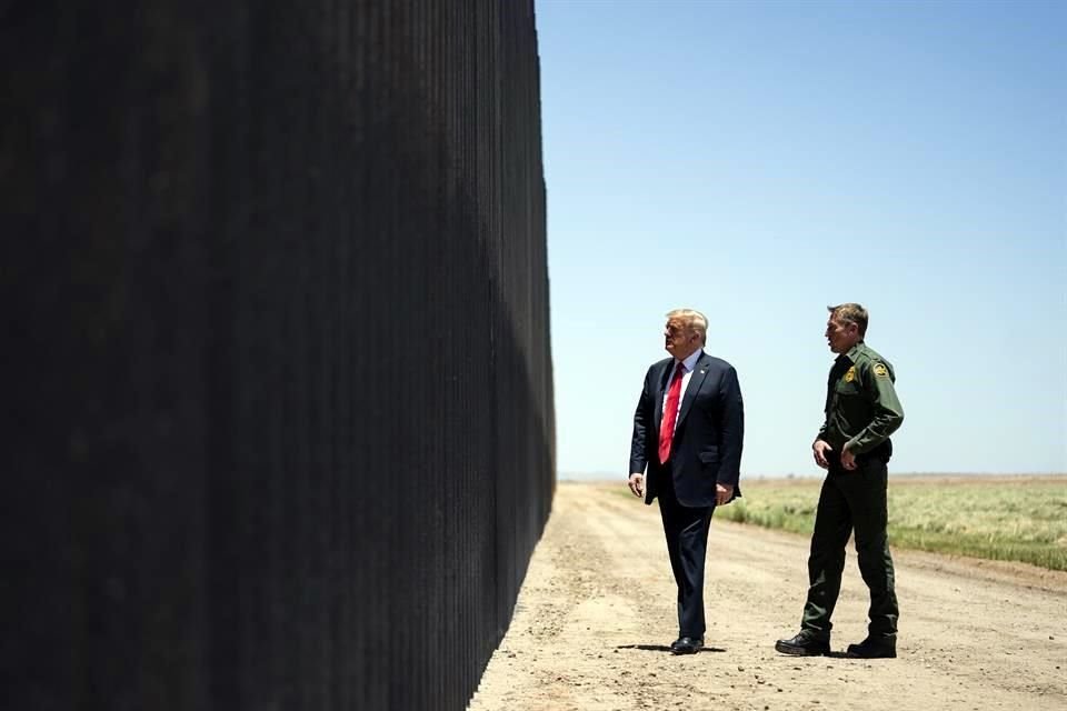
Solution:
[[[675,654],[704,647],[708,527],[716,505],[741,495],[741,389],[732,365],[704,352],[707,332],[708,320],[699,311],[667,314],[664,346],[671,357],[645,375],[630,444],[630,491],[648,504],[659,499],[678,585]]]

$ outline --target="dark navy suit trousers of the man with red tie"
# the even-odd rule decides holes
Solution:
[[[666,481],[660,483],[657,498],[670,569],[678,585],[678,635],[702,639],[706,629],[704,561],[715,507],[685,507],[678,503],[669,470],[664,479]]]

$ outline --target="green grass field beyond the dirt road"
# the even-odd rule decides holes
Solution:
[[[717,518],[810,534],[821,479],[747,479]],[[889,478],[889,544],[1067,570],[1067,477]]]

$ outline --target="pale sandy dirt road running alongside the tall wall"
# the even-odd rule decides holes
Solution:
[[[1065,573],[894,551],[899,657],[791,658],[774,642],[798,628],[807,540],[715,520],[708,549],[708,649],[674,657],[657,507],[561,483],[470,709],[1067,709]],[[866,610],[849,550],[835,652],[864,638]]]

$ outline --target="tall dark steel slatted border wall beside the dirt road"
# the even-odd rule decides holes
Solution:
[[[0,688],[461,709],[551,505],[530,1],[0,3]]]

